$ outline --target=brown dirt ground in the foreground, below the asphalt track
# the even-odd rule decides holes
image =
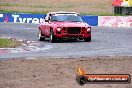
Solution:
[[[0,60],[0,88],[132,88],[132,84],[76,83],[76,68],[87,73],[130,74],[132,57],[28,58]]]

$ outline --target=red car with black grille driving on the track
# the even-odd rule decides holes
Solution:
[[[91,27],[84,23],[75,12],[50,12],[39,25],[39,40],[50,38],[50,42],[58,39],[80,39],[91,41]]]

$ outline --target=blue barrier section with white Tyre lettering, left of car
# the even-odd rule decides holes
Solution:
[[[40,23],[45,14],[0,13],[0,22]]]

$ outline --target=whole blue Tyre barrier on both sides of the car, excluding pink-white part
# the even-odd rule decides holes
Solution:
[[[0,22],[17,23],[40,23],[46,14],[21,14],[21,13],[0,13]],[[98,25],[98,16],[82,16],[84,22],[91,26]]]

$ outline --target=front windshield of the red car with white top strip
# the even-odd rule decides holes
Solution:
[[[54,14],[51,16],[51,21],[82,22],[82,19],[77,14]]]

